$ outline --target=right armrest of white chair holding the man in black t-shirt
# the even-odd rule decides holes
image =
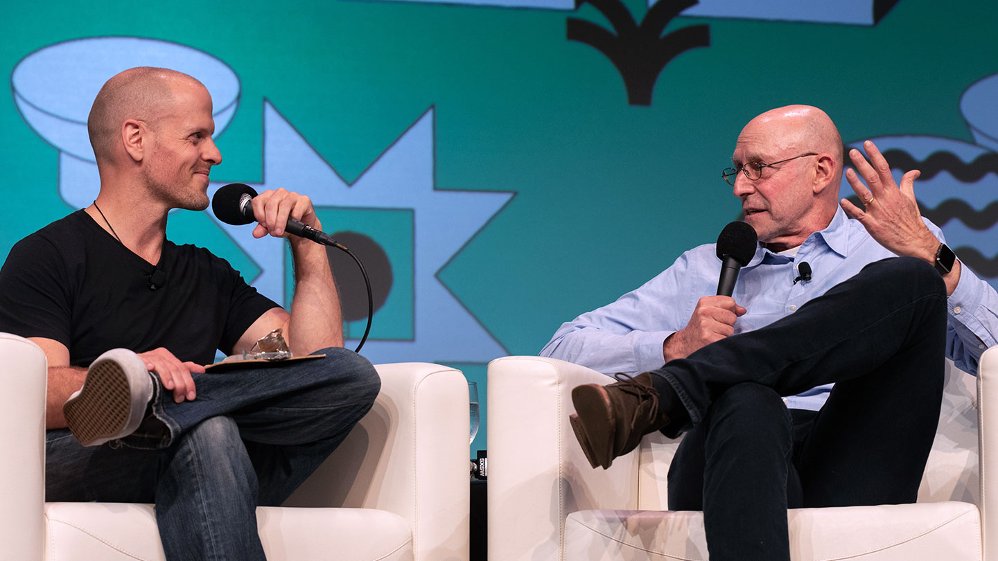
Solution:
[[[440,364],[375,367],[371,410],[283,506],[394,512],[412,528],[416,561],[467,559],[467,380]]]

